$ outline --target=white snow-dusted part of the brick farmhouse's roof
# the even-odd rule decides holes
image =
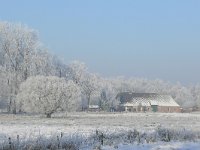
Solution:
[[[123,103],[124,106],[179,106],[170,95],[156,93],[133,93],[132,99]]]

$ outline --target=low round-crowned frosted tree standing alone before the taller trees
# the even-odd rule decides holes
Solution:
[[[17,95],[19,109],[51,117],[58,110],[76,109],[80,90],[73,81],[55,76],[30,77],[21,84]]]

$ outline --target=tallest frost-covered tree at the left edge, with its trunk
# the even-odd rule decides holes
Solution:
[[[6,69],[10,87],[8,111],[16,112],[19,85],[30,76],[31,55],[38,46],[37,32],[21,25],[0,22],[1,65]]]

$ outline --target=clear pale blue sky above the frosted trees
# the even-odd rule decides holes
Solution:
[[[0,0],[0,20],[103,76],[200,83],[199,0]]]

